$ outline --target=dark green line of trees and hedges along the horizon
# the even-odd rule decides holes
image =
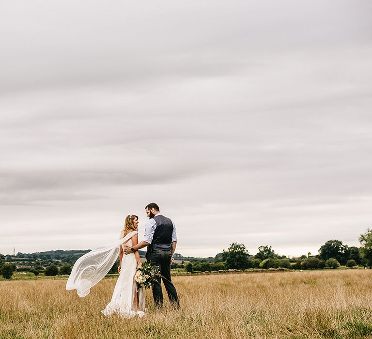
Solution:
[[[279,256],[271,246],[260,246],[255,255],[250,255],[244,244],[232,243],[227,250],[218,253],[214,258],[187,258],[175,254],[181,263],[173,263],[172,268],[187,272],[205,272],[221,270],[246,269],[324,269],[372,266],[372,230],[368,229],[359,236],[360,247],[349,247],[340,240],[328,240],[319,248],[317,255],[302,255],[297,258]],[[56,250],[39,253],[17,253],[16,256],[0,254],[0,274],[10,279],[13,273],[29,271],[35,276],[40,273],[46,276],[69,275],[73,264],[89,250]],[[140,251],[144,256],[145,252]],[[16,260],[16,263],[15,263]],[[117,273],[119,262],[115,262],[109,274]],[[18,268],[18,269],[17,269]]]

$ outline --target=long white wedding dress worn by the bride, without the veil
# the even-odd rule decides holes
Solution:
[[[132,246],[132,239],[125,245]],[[124,244],[122,244],[124,249]],[[134,253],[123,255],[122,269],[118,281],[116,282],[114,293],[112,294],[111,301],[102,311],[105,316],[116,313],[122,318],[131,318],[136,315],[140,317],[145,314],[145,296],[144,289],[138,289],[139,305],[135,307],[135,296],[137,291],[137,284],[134,281],[134,275],[137,270],[137,261]]]

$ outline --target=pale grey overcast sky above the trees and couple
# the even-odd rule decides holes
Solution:
[[[87,249],[155,201],[176,252],[372,227],[372,2],[1,1],[0,253]]]

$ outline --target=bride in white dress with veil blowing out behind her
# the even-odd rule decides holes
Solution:
[[[124,230],[119,240],[96,247],[75,262],[66,283],[66,290],[77,290],[80,297],[85,297],[90,289],[106,276],[119,256],[119,278],[111,301],[102,313],[105,316],[116,313],[122,318],[131,318],[136,315],[142,317],[145,314],[144,289],[137,288],[134,281],[137,267],[141,267],[140,254],[135,251],[125,255],[123,250],[124,245],[135,246],[137,244],[138,216],[126,216]]]

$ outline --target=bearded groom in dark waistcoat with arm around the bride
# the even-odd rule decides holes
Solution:
[[[147,246],[146,259],[157,266],[161,274],[153,286],[155,308],[163,306],[161,279],[169,301],[179,308],[177,291],[171,281],[171,261],[177,245],[176,227],[170,218],[160,214],[159,206],[155,202],[149,203],[145,209],[150,220],[145,225],[144,240],[132,247],[124,246],[124,252],[129,254]]]

